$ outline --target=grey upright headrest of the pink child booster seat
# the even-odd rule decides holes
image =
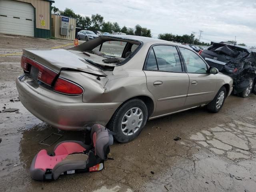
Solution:
[[[95,148],[95,155],[102,160],[106,157],[107,148],[113,144],[113,136],[108,129],[100,124],[94,124],[91,130],[92,144]]]

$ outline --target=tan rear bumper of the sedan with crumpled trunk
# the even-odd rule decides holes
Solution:
[[[86,124],[105,126],[120,102],[84,103],[82,96],[66,96],[39,86],[33,88],[16,78],[19,99],[24,107],[40,120],[61,130],[82,130]],[[81,97],[71,100],[70,97]],[[55,98],[55,99],[52,99]],[[78,102],[79,101],[79,102]]]

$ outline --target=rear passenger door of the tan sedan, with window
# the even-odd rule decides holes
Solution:
[[[144,72],[148,90],[156,100],[154,117],[184,108],[189,78],[180,62],[176,46],[155,45],[150,48]]]

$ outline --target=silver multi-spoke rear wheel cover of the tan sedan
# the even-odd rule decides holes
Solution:
[[[122,133],[126,136],[131,136],[136,133],[143,122],[143,113],[142,110],[138,107],[131,108],[128,110],[121,122]]]

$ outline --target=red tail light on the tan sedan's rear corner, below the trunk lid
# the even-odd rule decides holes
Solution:
[[[84,90],[78,85],[68,80],[58,78],[54,85],[54,90],[65,94],[80,95]]]

